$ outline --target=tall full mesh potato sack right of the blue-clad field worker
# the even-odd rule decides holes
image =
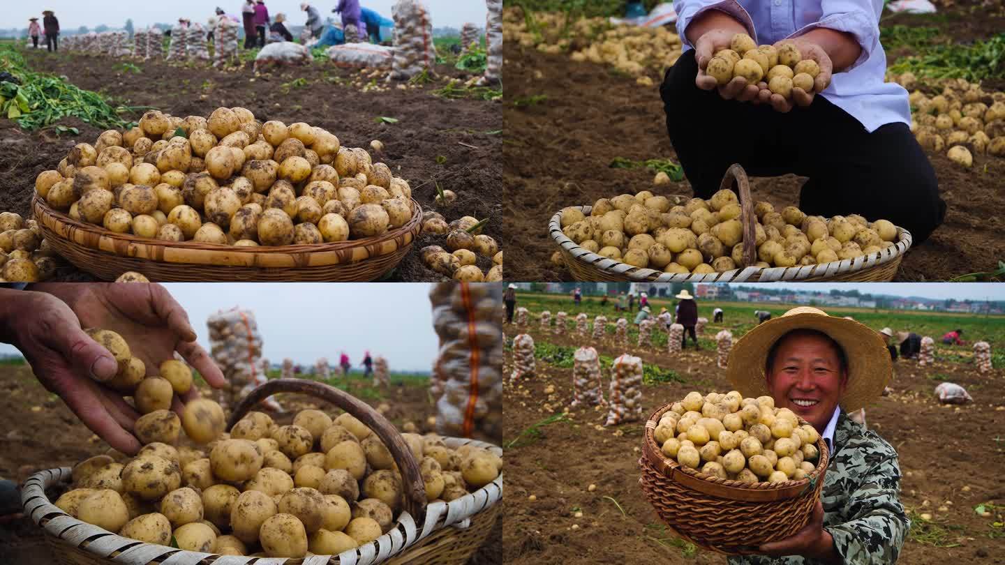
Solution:
[[[391,77],[408,80],[422,72],[433,72],[436,50],[429,10],[420,0],[398,0],[391,8],[394,18],[394,65]]]

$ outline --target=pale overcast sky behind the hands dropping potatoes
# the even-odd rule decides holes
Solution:
[[[209,350],[206,319],[235,306],[254,313],[263,354],[314,365],[337,364],[345,350],[353,366],[363,352],[384,356],[392,371],[429,371],[439,340],[433,331],[429,285],[414,284],[167,284]],[[0,344],[0,353],[17,353]]]

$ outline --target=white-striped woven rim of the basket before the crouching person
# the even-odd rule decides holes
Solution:
[[[583,212],[583,215],[589,216],[593,206],[566,206],[562,210],[570,208],[579,210]],[[786,267],[748,266],[725,272],[663,272],[661,270],[641,268],[623,261],[610,259],[582,247],[572,239],[569,239],[562,231],[562,210],[556,212],[548,221],[548,232],[559,247],[566,254],[573,257],[573,260],[596,268],[608,275],[624,276],[631,280],[649,282],[743,282],[752,278],[756,279],[756,277],[760,277],[761,275],[767,275],[766,278],[770,280],[798,281],[813,277],[826,278],[837,273],[861,273],[902,257],[908,252],[908,249],[911,248],[911,244],[914,241],[914,237],[910,231],[900,226],[895,226],[897,242],[893,246],[881,249],[872,255],[859,255],[853,259],[840,259],[825,263]]]

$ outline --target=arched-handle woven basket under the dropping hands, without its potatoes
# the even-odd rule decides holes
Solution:
[[[425,487],[404,439],[380,413],[349,394],[324,383],[300,379],[275,379],[245,397],[234,409],[227,429],[264,398],[277,392],[310,394],[353,414],[374,430],[398,463],[403,479],[404,510],[398,522],[377,540],[339,555],[316,555],[297,559],[255,558],[184,551],[124,538],[76,520],[49,501],[45,490],[67,487],[70,467],[41,470],[32,475],[21,491],[24,513],[45,530],[46,541],[56,563],[61,565],[462,565],[481,546],[500,512],[502,476],[492,483],[449,503],[426,504]],[[450,447],[465,444],[502,450],[490,443],[444,437]]]

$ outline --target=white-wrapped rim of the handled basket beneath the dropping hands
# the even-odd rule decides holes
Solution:
[[[442,436],[442,439],[448,445],[451,444],[451,443],[457,443],[458,446],[464,445],[464,444],[472,444],[472,445],[474,445],[476,447],[481,447],[481,448],[484,448],[484,449],[488,449],[492,453],[495,453],[496,455],[499,455],[499,456],[502,455],[502,448],[501,447],[499,447],[498,445],[494,445],[492,443],[485,442],[485,441],[480,441],[480,440],[477,440],[477,439],[469,439],[469,438],[465,438],[465,437],[451,437],[451,436]],[[88,525],[88,526],[90,526],[92,528],[96,528],[96,529],[100,530],[100,532],[104,532],[106,534],[113,535],[113,536],[119,536],[118,532],[110,532],[110,531],[105,530],[105,529],[103,529],[100,527],[97,527],[97,526],[94,526],[92,524],[88,524],[86,522],[83,522],[82,520],[73,518],[72,516],[66,514],[62,510],[59,510],[58,508],[56,508],[53,505],[53,502],[49,500],[48,496],[44,492],[44,489],[38,488],[39,495],[36,496],[36,495],[32,495],[31,494],[31,490],[28,488],[29,487],[29,483],[32,483],[34,481],[37,481],[39,483],[44,482],[43,476],[45,474],[63,475],[64,479],[61,482],[62,483],[67,483],[70,470],[71,470],[71,467],[64,466],[64,467],[54,467],[54,468],[48,468],[48,469],[41,469],[41,470],[38,470],[38,472],[32,474],[31,477],[29,477],[28,480],[25,481],[26,488],[23,490],[23,493],[22,493],[21,505],[23,507],[24,513],[31,515],[32,522],[34,522],[35,525],[39,526],[39,527],[42,526],[42,524],[41,524],[42,520],[45,520],[47,517],[51,517],[53,514],[59,514],[59,515],[65,516],[66,518],[74,521],[73,525],[76,525],[76,524],[86,524],[86,525]],[[34,487],[34,485],[31,485],[31,487]],[[491,495],[491,493],[490,493],[491,490],[496,491],[498,493],[498,495],[493,497]],[[33,511],[29,511],[27,509],[27,504],[30,501],[35,500],[39,496],[43,499],[43,501],[45,503],[47,503],[48,505],[50,505],[52,507],[52,510],[49,510],[47,512],[42,512],[42,513],[36,513],[35,510],[37,510],[37,507]],[[467,517],[459,515],[462,512],[462,510],[463,510],[463,508],[465,506],[467,506],[467,505],[476,505],[477,501],[479,499],[484,499],[484,501],[486,503],[483,506],[483,508],[481,508],[480,510],[474,512],[473,514],[471,514],[471,515],[469,515]],[[495,478],[494,481],[492,481],[488,485],[485,485],[484,487],[478,489],[477,491],[475,491],[473,493],[468,493],[468,494],[464,495],[463,497],[460,497],[459,499],[455,499],[455,500],[450,501],[450,502],[433,503],[433,504],[436,504],[436,505],[442,505],[441,508],[443,508],[443,511],[440,514],[440,516],[437,518],[437,525],[436,525],[436,527],[433,528],[429,532],[423,533],[423,530],[424,530],[423,525],[421,523],[418,523],[416,521],[415,517],[412,517],[410,514],[408,514],[408,512],[402,511],[402,513],[399,515],[399,519],[394,523],[394,526],[392,526],[392,528],[387,533],[382,534],[376,540],[373,540],[373,541],[368,542],[367,544],[365,544],[363,546],[359,546],[359,547],[356,547],[354,549],[347,550],[347,551],[345,551],[343,553],[340,553],[340,554],[337,554],[337,555],[327,555],[327,556],[323,555],[323,556],[320,556],[320,557],[328,557],[329,559],[339,558],[339,562],[342,562],[341,557],[342,556],[346,556],[346,558],[348,560],[350,560],[350,561],[347,561],[347,563],[348,562],[354,562],[355,563],[355,562],[357,562],[360,559],[359,552],[360,552],[360,549],[363,548],[363,547],[370,546],[370,545],[377,545],[377,546],[383,546],[383,547],[393,547],[394,545],[399,545],[399,543],[394,542],[392,534],[394,534],[396,531],[400,531],[400,530],[403,529],[403,526],[402,526],[402,518],[403,517],[407,518],[407,520],[412,521],[413,523],[415,523],[416,537],[414,539],[410,540],[410,543],[406,542],[404,544],[401,544],[397,548],[397,551],[392,551],[390,554],[384,555],[382,558],[378,558],[377,561],[374,561],[375,563],[379,563],[379,562],[383,561],[384,559],[389,559],[389,558],[397,556],[398,554],[405,553],[413,545],[416,545],[417,543],[421,542],[429,534],[432,534],[433,532],[440,531],[443,528],[446,528],[448,525],[458,524],[458,523],[462,522],[463,520],[465,520],[467,518],[470,518],[470,516],[477,515],[477,514],[479,514],[479,513],[487,510],[488,508],[491,508],[492,506],[498,504],[498,502],[501,501],[501,499],[502,499],[502,473],[499,472],[499,476],[497,478]],[[430,504],[429,507],[433,507],[433,504]],[[36,514],[37,514],[37,516],[36,516]],[[70,526],[70,527],[72,527],[72,526]],[[402,532],[402,535],[403,535],[403,532]],[[91,536],[91,537],[93,537],[93,536]],[[68,542],[65,542],[61,537],[57,536],[57,539],[59,539],[59,541],[62,542],[62,543],[68,543]],[[200,559],[208,559],[210,557],[212,557],[212,558],[215,559],[215,558],[220,558],[221,557],[220,555],[217,555],[215,553],[206,553],[206,552],[195,552],[195,551],[181,550],[181,549],[178,549],[178,548],[161,546],[159,544],[150,544],[150,543],[146,543],[146,542],[141,542],[140,540],[134,540],[134,541],[136,542],[136,544],[132,544],[130,546],[130,548],[129,548],[130,550],[133,550],[136,547],[153,546],[153,547],[162,547],[162,548],[164,548],[165,552],[167,552],[167,551],[172,552],[172,555],[178,554],[178,553],[186,553],[186,554],[192,554],[192,555],[202,556],[202,557],[200,557]],[[89,547],[90,546],[88,546],[87,548],[80,548],[80,549],[83,549],[83,551],[88,551]],[[110,558],[110,557],[107,557],[107,556],[104,556],[104,555],[100,555],[100,554],[97,554],[97,553],[91,552],[91,551],[88,551],[88,553],[91,553],[92,555],[95,555],[95,556],[97,556],[97,557],[99,557],[102,559],[106,559],[110,563],[113,562],[113,558]],[[269,558],[269,559],[284,559],[284,558]],[[299,560],[299,559],[306,559],[306,558],[288,558],[288,559]]]

